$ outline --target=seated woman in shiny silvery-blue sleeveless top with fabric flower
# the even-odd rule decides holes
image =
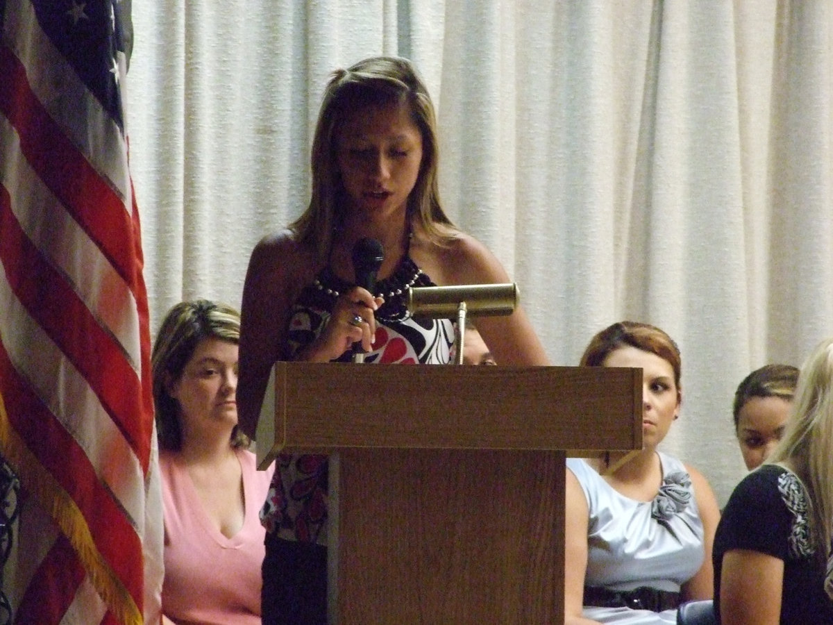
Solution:
[[[680,352],[625,321],[596,334],[581,365],[642,369],[643,448],[567,460],[565,623],[675,623],[681,602],[711,598],[720,517],[706,478],[656,449],[680,413]]]

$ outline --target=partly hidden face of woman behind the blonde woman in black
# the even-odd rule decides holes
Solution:
[[[791,403],[784,398],[749,398],[737,413],[737,442],[750,471],[760,467],[784,436]]]

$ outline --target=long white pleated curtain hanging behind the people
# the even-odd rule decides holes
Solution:
[[[655,323],[683,353],[665,447],[726,501],[737,383],[833,334],[827,0],[134,2],[128,94],[152,332],[240,304],[302,212],[327,75],[410,57],[439,113],[447,212],[521,288],[553,364]]]

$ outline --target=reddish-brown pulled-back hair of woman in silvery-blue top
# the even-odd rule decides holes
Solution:
[[[635,321],[621,321],[608,326],[595,337],[581,356],[582,367],[603,367],[605,360],[612,352],[619,348],[630,346],[643,352],[656,354],[666,360],[674,370],[674,383],[677,388],[677,400],[681,398],[681,366],[680,348],[674,340],[656,326]]]

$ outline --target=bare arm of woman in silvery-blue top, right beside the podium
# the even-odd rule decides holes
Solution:
[[[596,623],[581,616],[587,570],[587,499],[576,476],[566,469],[564,522],[564,625]]]

